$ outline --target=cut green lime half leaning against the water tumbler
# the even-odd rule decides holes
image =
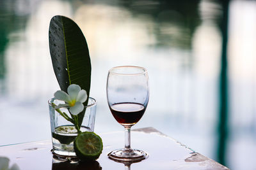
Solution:
[[[98,159],[102,148],[102,139],[94,132],[83,132],[77,136],[74,142],[77,157],[84,161]]]

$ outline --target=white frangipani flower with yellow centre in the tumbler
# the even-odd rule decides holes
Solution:
[[[65,101],[65,104],[59,104],[55,109],[68,107],[72,115],[78,115],[84,109],[83,103],[87,99],[87,94],[85,90],[81,90],[79,85],[69,85],[68,94],[62,90],[58,90],[54,93],[55,99],[60,101]]]

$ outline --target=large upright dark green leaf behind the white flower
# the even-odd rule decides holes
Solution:
[[[49,46],[54,73],[60,89],[67,92],[70,84],[77,84],[90,95],[91,60],[86,39],[78,25],[70,18],[56,15],[49,27]],[[88,100],[84,103],[86,105]],[[84,110],[85,111],[85,110]],[[78,115],[81,126],[84,111]]]

